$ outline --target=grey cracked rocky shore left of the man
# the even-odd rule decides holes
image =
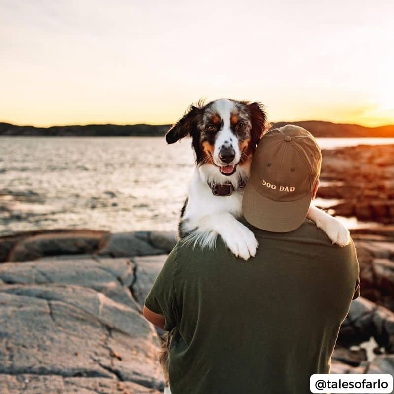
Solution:
[[[0,238],[0,393],[159,393],[143,300],[173,247],[158,232]]]

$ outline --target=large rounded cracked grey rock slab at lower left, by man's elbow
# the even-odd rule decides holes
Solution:
[[[1,290],[1,374],[120,378],[161,387],[156,334],[135,310],[86,288]]]

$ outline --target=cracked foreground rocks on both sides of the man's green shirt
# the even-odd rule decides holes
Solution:
[[[394,374],[394,226],[352,236],[361,297],[332,372]],[[174,243],[170,232],[0,238],[0,392],[161,392],[158,334],[141,307]]]

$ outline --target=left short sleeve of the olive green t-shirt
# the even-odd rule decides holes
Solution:
[[[145,298],[145,306],[152,312],[163,315],[164,329],[170,331],[176,326],[176,296],[174,269],[176,265],[176,247],[168,255],[162,270]]]

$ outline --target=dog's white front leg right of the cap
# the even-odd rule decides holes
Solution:
[[[349,230],[338,220],[315,206],[310,206],[307,218],[313,220],[332,241],[339,246],[346,246],[350,242]]]

